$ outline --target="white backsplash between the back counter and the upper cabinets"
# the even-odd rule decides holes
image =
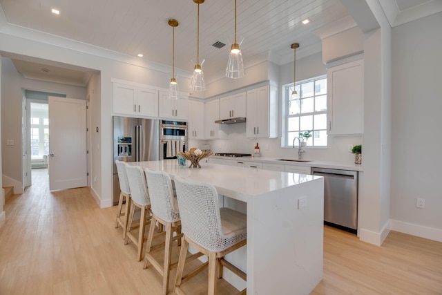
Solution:
[[[268,158],[297,158],[294,149],[281,148],[281,139],[278,138],[246,138],[246,123],[229,125],[229,139],[227,140],[189,140],[189,146],[209,144],[213,153],[253,153],[258,142],[261,157]],[[329,136],[327,148],[305,148],[302,158],[308,160],[329,162],[354,162],[354,155],[348,151],[349,144],[362,144],[361,135]]]

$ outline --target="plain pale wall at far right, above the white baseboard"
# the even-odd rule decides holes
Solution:
[[[439,12],[392,29],[392,229],[430,238],[442,236],[441,28]]]

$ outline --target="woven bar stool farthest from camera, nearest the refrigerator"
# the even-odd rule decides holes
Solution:
[[[121,225],[123,228],[123,239],[126,239],[127,222],[129,219],[128,202],[131,198],[131,189],[129,189],[129,184],[127,182],[126,162],[115,160],[115,164],[117,165],[119,188],[121,190],[119,193],[117,222],[115,228],[117,228],[118,225]],[[124,199],[126,199],[126,210],[125,213],[122,213]],[[120,218],[122,215],[124,216],[124,220]]]

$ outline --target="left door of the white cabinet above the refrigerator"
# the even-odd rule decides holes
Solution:
[[[126,84],[113,84],[113,113],[133,115],[137,108],[137,88]]]

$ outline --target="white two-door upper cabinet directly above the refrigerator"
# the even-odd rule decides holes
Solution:
[[[113,83],[113,113],[158,117],[158,91]]]

